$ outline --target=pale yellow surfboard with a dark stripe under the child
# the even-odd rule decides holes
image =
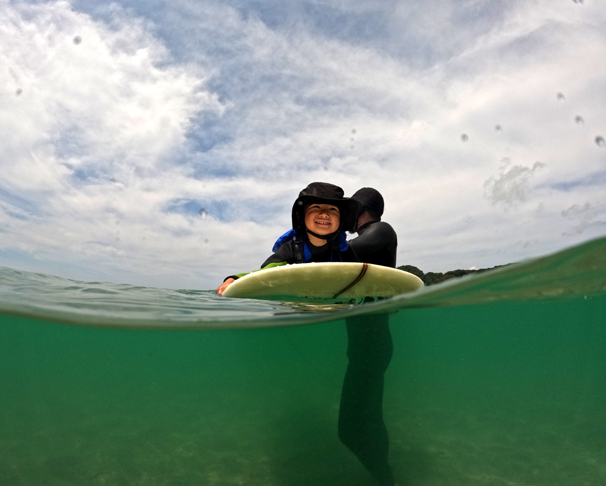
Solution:
[[[225,297],[296,296],[350,300],[392,297],[417,290],[423,282],[397,268],[366,263],[306,263],[267,268],[245,275],[227,287]]]

